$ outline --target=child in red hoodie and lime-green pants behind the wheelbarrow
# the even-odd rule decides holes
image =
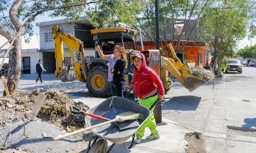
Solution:
[[[163,100],[165,89],[161,79],[157,73],[151,68],[147,67],[145,56],[142,53],[137,53],[132,57],[134,70],[133,70],[133,82],[131,82],[131,89],[135,89],[135,94],[140,98],[140,105],[150,108],[155,101]],[[157,85],[157,88],[155,87]],[[157,90],[158,89],[158,90]],[[159,93],[159,95],[158,95]],[[151,110],[150,118],[141,125],[141,128],[137,130],[135,143],[141,143],[141,139],[144,136],[145,128],[148,127],[151,130],[151,135],[146,139],[159,139],[159,132],[157,124],[154,118],[154,108]]]

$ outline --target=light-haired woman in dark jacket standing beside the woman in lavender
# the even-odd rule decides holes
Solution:
[[[116,64],[112,68],[113,73],[113,84],[116,90],[116,96],[123,97],[123,89],[125,88],[125,68],[127,67],[127,58],[125,48],[122,46],[115,46],[114,55]]]

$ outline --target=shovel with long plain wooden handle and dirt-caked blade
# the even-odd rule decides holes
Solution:
[[[90,126],[88,128],[80,129],[80,130],[77,130],[77,131],[74,131],[74,132],[63,134],[61,136],[57,136],[53,140],[56,141],[56,140],[63,139],[65,137],[73,136],[74,134],[81,133],[81,132],[84,132],[84,131],[87,131],[87,130],[90,130],[90,129],[93,129],[93,128],[97,128],[99,126],[103,126],[103,125],[106,125],[108,123],[124,122],[124,121],[134,120],[134,119],[142,119],[143,120],[144,115],[141,114],[141,113],[134,113],[134,112],[130,112],[130,111],[129,112],[123,112],[122,114],[117,115],[115,119],[111,119],[110,121],[99,123],[97,125],[93,125],[93,126]]]

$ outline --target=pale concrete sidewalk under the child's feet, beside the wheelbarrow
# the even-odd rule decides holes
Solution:
[[[184,140],[186,133],[194,132],[179,125],[179,123],[170,121],[169,119],[162,119],[167,125],[158,126],[160,139],[147,140],[145,137],[150,135],[150,130],[147,128],[145,136],[140,144],[135,144],[133,148],[127,150],[123,144],[115,145],[112,152],[169,152],[169,153],[183,153],[188,144]],[[129,145],[127,143],[127,145]]]

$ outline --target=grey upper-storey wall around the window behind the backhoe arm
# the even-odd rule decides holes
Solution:
[[[74,25],[71,23],[65,23],[65,24],[58,24],[60,28],[63,28],[64,30],[68,30],[68,32],[72,35],[74,35]],[[40,27],[40,49],[41,50],[54,50],[54,39],[52,42],[45,42],[45,32],[51,32],[52,27],[54,25],[46,25],[43,27]],[[64,48],[66,49],[67,46],[64,43]]]

